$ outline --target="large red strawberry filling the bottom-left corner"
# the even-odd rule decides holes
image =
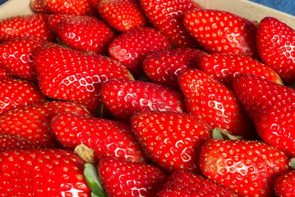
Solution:
[[[2,197],[90,197],[83,177],[85,162],[57,149],[0,153]]]

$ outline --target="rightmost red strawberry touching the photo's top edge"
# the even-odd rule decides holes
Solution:
[[[183,26],[183,14],[202,7],[193,0],[141,0],[153,27],[166,35],[177,48],[195,48],[197,44]]]

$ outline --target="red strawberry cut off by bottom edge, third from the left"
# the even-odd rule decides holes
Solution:
[[[188,172],[173,173],[156,197],[236,197],[229,190]]]

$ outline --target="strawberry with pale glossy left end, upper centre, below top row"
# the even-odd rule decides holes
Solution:
[[[142,63],[149,53],[169,48],[170,43],[164,35],[152,28],[139,28],[119,35],[110,44],[109,54],[138,77],[143,72]]]

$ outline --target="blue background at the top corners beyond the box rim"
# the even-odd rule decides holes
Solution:
[[[0,4],[7,0],[0,0]],[[268,7],[295,15],[295,0],[252,0]]]

